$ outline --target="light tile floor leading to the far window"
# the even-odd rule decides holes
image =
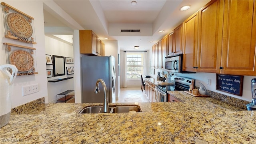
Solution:
[[[139,87],[120,88],[120,95],[116,102],[150,102]]]

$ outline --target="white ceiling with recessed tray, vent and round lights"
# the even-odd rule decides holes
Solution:
[[[120,50],[149,50],[210,0],[53,0],[85,30],[100,40],[117,40]],[[180,11],[180,7],[190,9]],[[44,8],[45,34],[72,34],[68,21]],[[60,30],[56,30],[60,28]],[[140,30],[140,32],[120,32]],[[164,30],[160,33],[159,30]]]

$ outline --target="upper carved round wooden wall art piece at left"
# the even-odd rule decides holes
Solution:
[[[6,20],[9,29],[19,38],[30,38],[32,36],[32,26],[21,14],[10,13],[6,16]]]

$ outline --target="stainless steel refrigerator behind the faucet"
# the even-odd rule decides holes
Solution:
[[[108,102],[116,102],[116,71],[114,56],[83,56],[82,57],[82,102],[104,101],[104,89],[99,84],[100,93],[94,92],[96,81],[101,78],[108,89]]]

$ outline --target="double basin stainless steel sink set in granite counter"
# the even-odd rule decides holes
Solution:
[[[141,112],[139,106],[114,106],[109,107],[110,113]],[[89,106],[83,108],[79,114],[98,114],[103,112],[103,106]]]

